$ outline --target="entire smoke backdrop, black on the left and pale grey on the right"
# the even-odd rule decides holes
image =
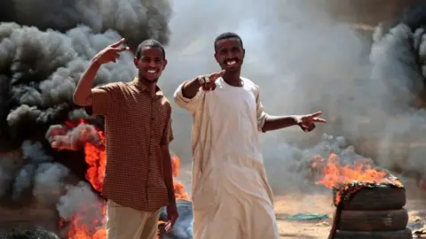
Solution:
[[[83,182],[68,185],[60,196],[69,172],[46,156],[51,149],[43,145],[45,135],[60,133],[55,125],[88,118],[72,104],[72,94],[91,58],[107,44],[122,37],[133,49],[148,37],[166,43],[169,65],[160,85],[171,100],[182,81],[218,70],[213,41],[225,31],[241,35],[243,76],[259,85],[267,112],[320,110],[330,121],[312,134],[295,127],[262,135],[266,171],[276,191],[312,189],[307,180],[312,155],[327,158],[332,151],[345,163],[372,158],[389,169],[422,174],[426,118],[419,96],[426,58],[419,22],[424,21],[410,21],[406,14],[408,19],[390,29],[378,27],[370,39],[335,17],[337,2],[342,1],[2,2],[0,13],[7,14],[0,14],[0,146],[24,156],[18,166],[10,158],[0,160],[0,196],[20,198],[31,189],[43,202],[56,198],[64,218],[83,198],[95,198]],[[132,57],[123,53],[117,63],[101,67],[95,84],[130,81],[136,74]],[[178,140],[172,150],[189,163],[191,116],[174,106]],[[59,133],[48,141],[60,142]],[[62,143],[78,148],[84,134],[67,134],[74,135],[73,142]]]

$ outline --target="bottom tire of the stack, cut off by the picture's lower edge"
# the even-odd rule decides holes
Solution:
[[[333,239],[412,239],[413,235],[410,229],[384,232],[335,232]]]

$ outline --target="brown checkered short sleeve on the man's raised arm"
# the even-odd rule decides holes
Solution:
[[[91,89],[91,114],[92,115],[108,115],[117,104],[117,93],[120,86],[117,83],[107,84],[105,86]]]

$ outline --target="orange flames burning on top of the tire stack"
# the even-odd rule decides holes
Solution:
[[[404,187],[396,177],[383,170],[375,169],[365,160],[358,160],[353,166],[341,166],[339,158],[334,153],[327,160],[319,156],[313,158],[312,168],[322,171],[320,179],[315,181],[316,184],[324,185],[328,189],[339,189],[335,204],[342,201],[343,191],[352,194],[368,184]]]

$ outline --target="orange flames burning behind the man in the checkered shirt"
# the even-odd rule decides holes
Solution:
[[[85,161],[88,165],[86,172],[86,179],[91,182],[94,189],[99,192],[102,189],[106,169],[106,151],[105,151],[105,135],[99,128],[86,124],[85,121],[79,122],[66,122],[64,126],[55,126],[47,133],[47,138],[51,142],[51,147],[57,150],[80,150],[83,147],[85,154]],[[172,170],[173,187],[175,189],[175,197],[177,200],[190,200],[185,186],[182,182],[177,181],[179,175],[180,159],[173,155]],[[97,207],[96,210],[100,212],[101,218],[98,221],[90,222],[84,221],[85,211],[93,210],[93,208],[82,205],[82,212],[75,214],[74,218],[69,222],[70,229],[68,230],[69,239],[105,239],[106,238],[106,205],[101,202],[98,205],[91,205]],[[159,221],[159,224],[164,222]],[[59,221],[59,227],[63,227],[64,221]],[[90,229],[96,227],[99,229]]]

